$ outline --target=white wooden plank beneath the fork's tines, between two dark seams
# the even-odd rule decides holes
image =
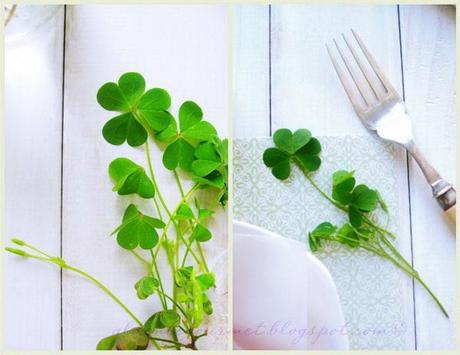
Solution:
[[[272,6],[272,125],[309,128],[314,135],[369,134],[354,113],[333,70],[325,44],[350,28],[368,44],[401,92],[396,6]],[[406,156],[397,150],[400,251],[411,259]],[[389,266],[390,267],[390,266]],[[412,282],[404,278],[405,348],[414,348]]]

